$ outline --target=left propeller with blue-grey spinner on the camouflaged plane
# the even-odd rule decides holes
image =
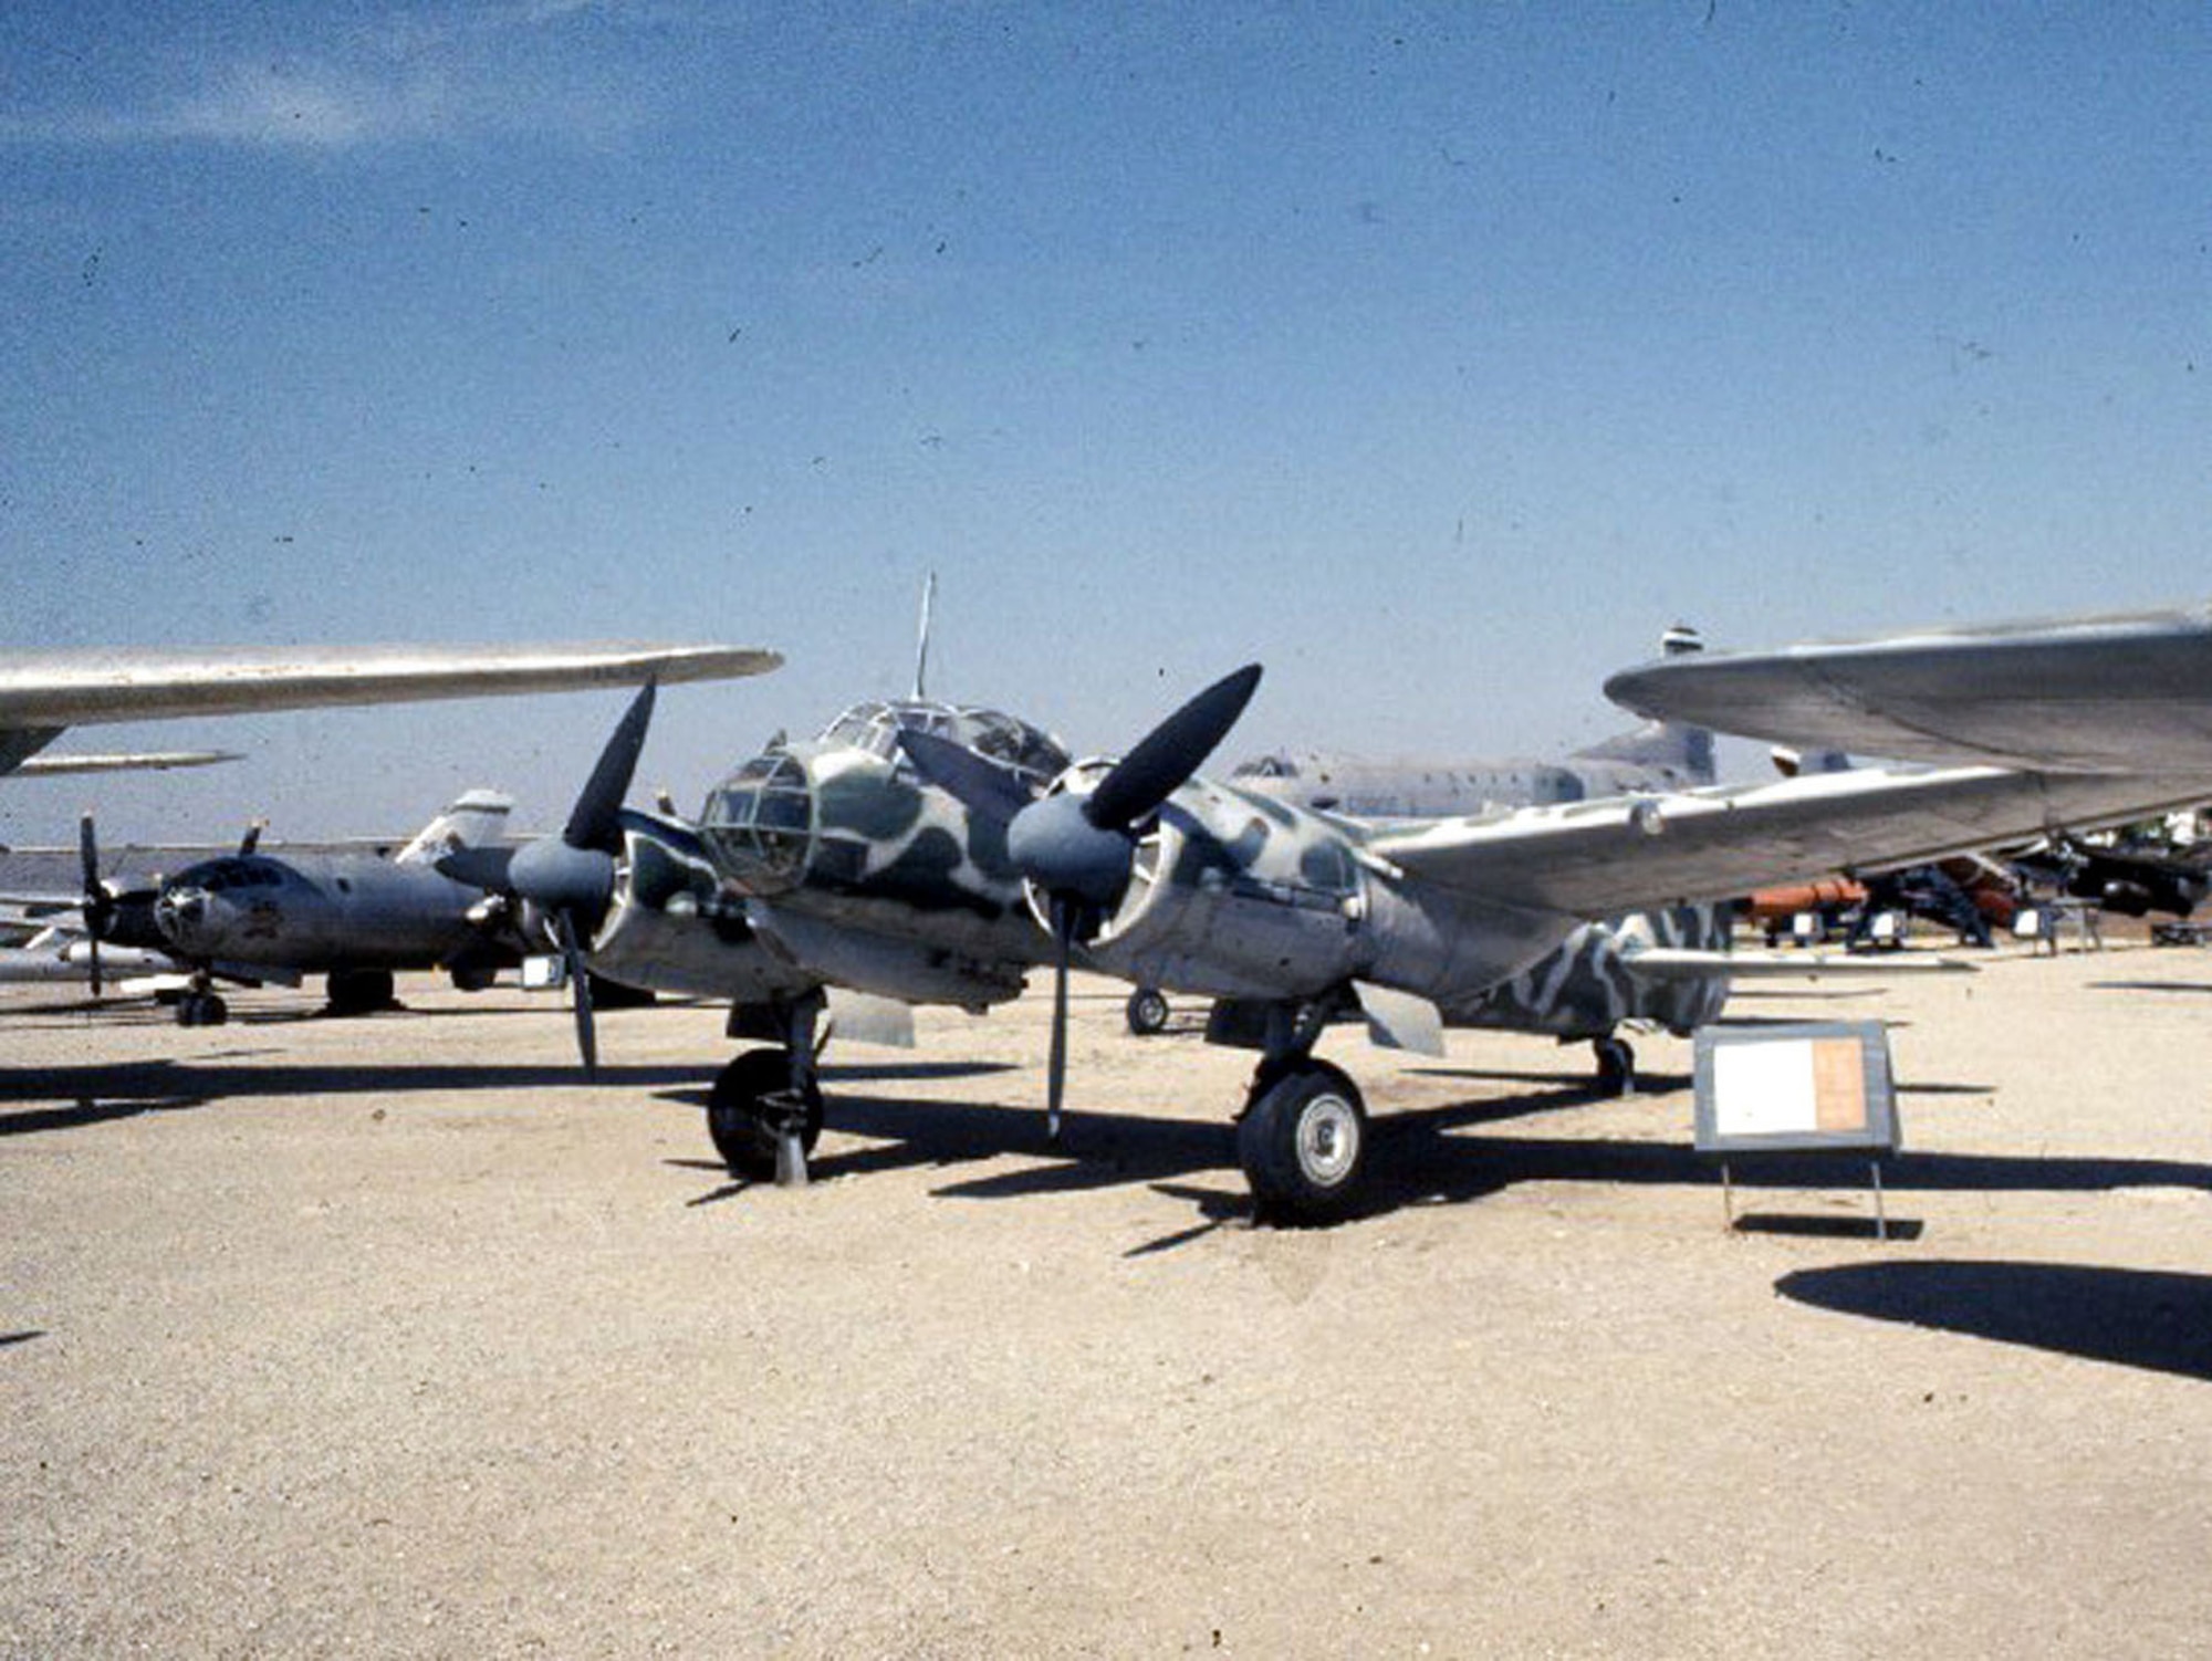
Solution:
[[[546,836],[522,847],[462,847],[438,860],[438,869],[456,882],[513,894],[544,920],[544,931],[566,969],[568,997],[575,1009],[575,1046],[584,1057],[584,1075],[599,1075],[599,1037],[591,1013],[591,969],[584,947],[606,920],[615,898],[615,856],[622,852],[622,798],[630,794],[637,756],[646,748],[653,723],[655,686],[646,681],[599,761],[584,781],[584,792],[568,809],[560,836]]]

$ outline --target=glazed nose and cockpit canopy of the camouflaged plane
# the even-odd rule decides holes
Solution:
[[[998,710],[953,703],[854,703],[812,745],[772,743],[706,798],[703,836],[723,876],[745,894],[781,894],[805,878],[821,836],[814,767],[836,752],[858,750],[889,763],[889,776],[911,783],[914,763],[898,748],[902,730],[967,745],[1029,776],[1040,790],[1068,767],[1068,752],[1048,734]]]

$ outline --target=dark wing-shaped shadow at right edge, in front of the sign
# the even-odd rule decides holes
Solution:
[[[1851,1263],[1785,1298],[1913,1327],[2212,1380],[2212,1276],[2079,1263]]]

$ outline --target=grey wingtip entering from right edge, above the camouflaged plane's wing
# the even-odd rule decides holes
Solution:
[[[1615,675],[1606,697],[1902,761],[2212,772],[2212,606],[1672,657]]]

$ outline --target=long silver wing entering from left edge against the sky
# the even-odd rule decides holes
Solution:
[[[62,728],[341,703],[564,692],[639,681],[765,675],[783,659],[743,646],[239,646],[11,652],[0,657],[0,774]]]

